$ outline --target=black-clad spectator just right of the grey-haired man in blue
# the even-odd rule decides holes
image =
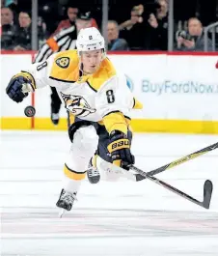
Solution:
[[[120,25],[121,37],[126,40],[131,50],[143,50],[145,33],[145,26],[143,23],[143,17],[139,7],[134,7],[131,11],[131,18],[124,21]]]

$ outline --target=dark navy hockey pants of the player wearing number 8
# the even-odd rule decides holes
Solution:
[[[107,146],[110,144],[109,133],[104,126],[100,126],[96,122],[84,121],[79,118],[75,118],[75,122],[68,127],[68,136],[71,142],[73,142],[74,132],[81,127],[94,126],[96,134],[98,135],[98,145],[95,152],[96,155],[100,156],[108,162],[112,162],[111,156],[107,150]],[[132,132],[128,129],[127,137],[131,144]]]

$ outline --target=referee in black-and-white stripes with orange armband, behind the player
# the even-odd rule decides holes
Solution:
[[[80,29],[88,28],[92,26],[91,13],[79,14],[72,24],[67,29],[63,29],[54,37],[49,38],[46,43],[41,46],[34,63],[46,61],[46,59],[53,53],[64,51],[68,49],[75,49],[75,42],[77,34]],[[54,87],[51,88],[51,121],[54,125],[59,123],[59,112],[62,101],[60,100],[58,93]]]

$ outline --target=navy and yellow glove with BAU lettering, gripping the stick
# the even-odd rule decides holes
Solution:
[[[128,165],[134,164],[135,157],[131,155],[127,136],[120,130],[113,130],[110,134],[110,141],[107,148],[113,163],[128,169]]]

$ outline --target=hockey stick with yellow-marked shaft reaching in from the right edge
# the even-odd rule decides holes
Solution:
[[[172,161],[172,162],[170,162],[170,163],[168,163],[168,164],[166,164],[166,165],[163,165],[163,166],[161,166],[161,167],[159,167],[159,168],[157,168],[157,169],[154,169],[154,170],[148,172],[147,174],[150,175],[150,176],[156,175],[156,174],[158,174],[158,173],[161,173],[161,172],[164,172],[164,171],[169,170],[169,169],[171,169],[171,168],[174,168],[174,167],[176,167],[177,165],[179,165],[179,164],[181,164],[181,163],[184,163],[184,162],[186,162],[186,161],[189,161],[189,160],[191,160],[191,159],[194,159],[194,158],[196,158],[196,157],[198,157],[198,156],[202,156],[202,155],[204,155],[205,153],[208,153],[208,152],[210,152],[210,151],[213,151],[213,150],[215,150],[215,149],[217,149],[217,148],[218,148],[218,142],[215,143],[215,144],[212,144],[212,145],[210,145],[210,146],[208,146],[208,147],[205,147],[205,148],[202,149],[202,150],[196,151],[196,152],[194,152],[194,153],[192,153],[192,154],[190,154],[190,155],[188,155],[188,156],[183,156],[183,157],[181,157],[181,158],[179,158],[179,159],[177,159],[177,160],[175,160],[175,161]],[[146,178],[147,178],[147,177],[145,177],[145,176],[143,176],[143,175],[141,175],[141,174],[136,174],[136,181],[137,181],[137,182],[140,182],[140,181],[142,181],[142,180],[144,180],[144,179],[146,179]]]

